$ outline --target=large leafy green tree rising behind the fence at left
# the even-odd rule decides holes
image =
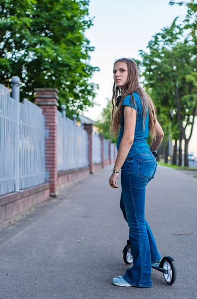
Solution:
[[[94,47],[84,36],[92,25],[89,0],[2,0],[0,3],[0,82],[21,78],[21,96],[33,101],[34,87],[56,87],[67,113],[94,105],[89,79]],[[72,110],[72,112],[70,112]]]

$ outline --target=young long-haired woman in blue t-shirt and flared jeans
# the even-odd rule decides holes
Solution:
[[[112,283],[120,287],[152,286],[151,264],[161,256],[150,227],[145,220],[145,188],[154,177],[157,149],[164,133],[156,119],[154,104],[139,86],[136,63],[128,58],[114,64],[112,119],[110,132],[118,136],[118,155],[109,184],[118,188],[116,180],[121,172],[121,210],[130,228],[133,266],[124,276],[115,277]],[[121,96],[121,97],[120,97]],[[116,110],[118,106],[118,110]],[[147,145],[152,136],[151,147]]]

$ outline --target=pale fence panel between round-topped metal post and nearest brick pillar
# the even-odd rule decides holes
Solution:
[[[45,117],[24,99],[19,103],[19,188],[45,182]]]

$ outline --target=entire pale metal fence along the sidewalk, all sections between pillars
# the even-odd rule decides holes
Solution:
[[[19,79],[19,78],[18,78]],[[45,182],[45,117],[28,100],[19,103],[19,86],[10,90],[0,84],[0,195]],[[58,170],[88,166],[88,134],[66,118],[66,107],[57,115]],[[114,158],[114,145],[111,145]],[[93,163],[101,163],[101,140],[92,133]],[[104,159],[109,159],[109,141],[104,139]]]

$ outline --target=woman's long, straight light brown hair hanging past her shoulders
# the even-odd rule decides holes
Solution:
[[[134,97],[132,93],[136,91],[140,97],[142,102],[143,108],[143,129],[145,128],[145,118],[147,114],[149,114],[149,127],[150,127],[150,135],[153,139],[156,139],[156,108],[153,104],[152,99],[150,96],[143,90],[143,88],[139,85],[139,72],[137,68],[137,64],[129,58],[121,58],[116,60],[114,66],[117,62],[125,62],[127,63],[128,67],[128,77],[127,82],[124,86],[124,90],[122,87],[117,87],[114,83],[113,85],[113,96],[112,96],[112,117],[111,117],[111,124],[110,124],[110,135],[114,137],[118,137],[118,132],[121,125],[121,116],[122,116],[122,105],[123,101],[126,96],[131,95],[131,102],[135,105]],[[117,107],[117,98],[118,96],[122,95],[122,99],[118,105],[118,110],[116,111]],[[132,104],[131,103],[131,104]]]

